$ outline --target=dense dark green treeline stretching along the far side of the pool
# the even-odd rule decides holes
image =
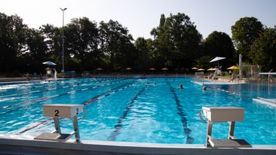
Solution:
[[[153,39],[136,40],[118,21],[96,23],[87,17],[72,19],[64,26],[65,70],[93,72],[148,72],[149,68],[169,68],[173,72],[188,72],[193,66],[208,69],[215,56],[226,69],[244,61],[275,68],[276,31],[265,28],[254,17],[239,19],[232,26],[232,39],[224,32],[214,31],[202,39],[196,25],[183,13],[161,14],[159,25],[152,28]],[[1,74],[44,72],[44,61],[57,63],[62,70],[62,28],[41,25],[28,28],[17,15],[0,13],[0,72]]]

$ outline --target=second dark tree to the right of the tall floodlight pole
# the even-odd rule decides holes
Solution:
[[[123,70],[134,65],[137,52],[131,41],[133,38],[128,34],[118,21],[100,22],[99,33],[101,40],[101,50],[106,55],[106,63],[109,70]]]

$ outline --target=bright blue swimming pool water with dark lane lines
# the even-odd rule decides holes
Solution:
[[[184,89],[179,89],[179,84]],[[276,144],[276,108],[253,101],[257,85],[207,85],[190,78],[93,78],[5,83],[0,85],[0,136],[34,137],[55,125],[43,116],[42,105],[82,104],[82,140],[141,143],[206,143],[203,106],[244,107],[245,121],[235,136],[252,145]],[[82,116],[80,114],[80,116]],[[61,132],[72,132],[72,121],[61,120]],[[228,123],[214,123],[213,136],[227,138]]]

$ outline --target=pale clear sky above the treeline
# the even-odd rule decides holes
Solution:
[[[275,0],[1,0],[0,12],[17,14],[29,28],[50,23],[62,26],[72,18],[90,21],[118,21],[134,39],[152,38],[150,31],[159,25],[161,14],[177,12],[190,17],[204,38],[217,30],[230,37],[231,26],[242,17],[255,17],[268,28],[276,25]]]

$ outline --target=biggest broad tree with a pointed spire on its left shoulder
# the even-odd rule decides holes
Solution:
[[[186,14],[170,14],[166,19],[161,14],[159,26],[150,33],[155,38],[152,54],[166,67],[189,66],[198,55],[201,34]]]

